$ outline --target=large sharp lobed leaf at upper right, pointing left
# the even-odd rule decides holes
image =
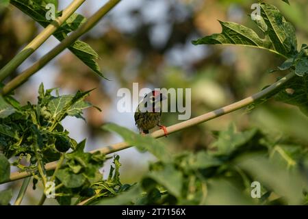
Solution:
[[[260,38],[253,29],[232,22],[222,22],[222,33],[194,40],[193,44],[235,44],[267,49],[283,57],[296,54],[295,29],[274,5],[259,3],[261,16],[255,22],[264,33]]]

